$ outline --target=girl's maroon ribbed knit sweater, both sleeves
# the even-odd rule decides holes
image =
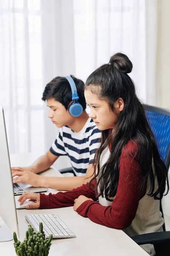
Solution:
[[[141,170],[136,160],[129,156],[129,152],[130,155],[134,155],[136,149],[136,145],[129,141],[122,150],[119,159],[119,183],[116,197],[111,206],[105,207],[95,202],[98,198],[95,192],[96,180],[94,180],[90,188],[87,183],[67,192],[40,194],[39,209],[70,207],[74,205],[74,199],[79,195],[84,195],[94,201],[87,200],[82,203],[77,208],[80,215],[107,227],[116,229],[128,227],[135,218],[139,200],[146,193],[145,189],[143,195],[140,195]]]

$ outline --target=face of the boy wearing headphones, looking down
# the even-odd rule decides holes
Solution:
[[[47,106],[49,107],[48,117],[58,128],[69,125],[73,121],[73,117],[65,106],[55,99],[48,99]]]

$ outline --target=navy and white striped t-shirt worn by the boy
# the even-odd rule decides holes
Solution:
[[[59,134],[50,151],[56,156],[67,155],[77,176],[85,176],[88,165],[93,163],[96,149],[101,141],[101,131],[93,119],[88,118],[85,126],[78,133],[67,125],[59,129]]]

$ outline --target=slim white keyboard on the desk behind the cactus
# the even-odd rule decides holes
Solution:
[[[36,232],[40,230],[39,224],[42,222],[43,231],[47,238],[50,234],[53,235],[53,238],[76,237],[56,214],[27,214],[25,218]]]

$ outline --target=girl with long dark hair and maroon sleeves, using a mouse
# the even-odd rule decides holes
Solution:
[[[95,177],[77,189],[55,195],[25,193],[19,199],[21,204],[31,199],[35,203],[28,209],[74,206],[83,217],[122,229],[128,236],[162,230],[159,207],[166,183],[169,189],[167,169],[128,76],[131,70],[129,58],[116,53],[86,81],[90,117],[102,131]],[[155,255],[152,245],[143,248]]]

